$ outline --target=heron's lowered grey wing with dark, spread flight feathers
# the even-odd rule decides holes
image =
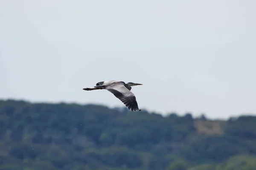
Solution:
[[[129,91],[124,84],[106,87],[106,90],[113,93],[128,109],[131,109],[131,111],[140,111],[135,95]]]

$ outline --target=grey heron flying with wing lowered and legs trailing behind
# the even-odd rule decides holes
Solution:
[[[96,83],[94,88],[83,88],[85,91],[106,89],[110,91],[114,96],[121,100],[125,106],[131,111],[141,111],[138,107],[135,95],[131,92],[131,86],[142,85],[134,82],[122,82],[122,81],[104,81]]]

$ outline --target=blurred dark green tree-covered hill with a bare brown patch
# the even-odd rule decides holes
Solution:
[[[256,170],[256,116],[0,100],[0,170],[48,169]]]

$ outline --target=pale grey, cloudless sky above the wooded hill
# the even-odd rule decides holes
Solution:
[[[256,114],[255,0],[1,0],[0,98],[123,107],[96,82],[132,88],[141,109]]]

